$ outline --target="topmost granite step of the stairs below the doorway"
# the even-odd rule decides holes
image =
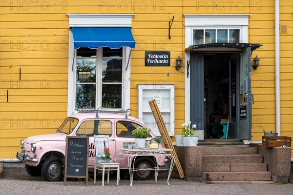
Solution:
[[[203,155],[256,155],[257,147],[204,147]]]

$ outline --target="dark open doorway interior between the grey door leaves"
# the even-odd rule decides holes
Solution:
[[[237,60],[234,53],[204,54],[205,139],[236,138]]]

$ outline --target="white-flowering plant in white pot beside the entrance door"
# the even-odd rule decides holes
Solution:
[[[196,128],[196,125],[193,124],[190,128],[190,124],[191,122],[189,121],[188,123],[183,123],[181,125],[181,136],[183,146],[197,146],[198,136],[194,136],[194,129]]]

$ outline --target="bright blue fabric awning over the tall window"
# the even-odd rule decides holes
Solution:
[[[130,27],[72,27],[74,49],[88,47],[135,48]]]

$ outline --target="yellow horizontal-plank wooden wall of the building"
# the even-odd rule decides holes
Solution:
[[[213,0],[0,0],[0,159],[15,158],[21,139],[53,133],[66,117],[67,13],[134,14],[132,34],[137,44],[131,55],[131,114],[137,117],[137,84],[175,84],[175,133],[181,131],[185,122],[185,69],[174,68],[178,56],[185,58],[183,14],[250,14],[249,42],[264,45],[252,55],[261,59],[251,78],[255,100],[252,140],[261,140],[262,129],[274,132],[274,0],[224,0],[217,6],[214,3]],[[293,137],[292,9],[292,1],[280,1],[280,24],[288,27],[288,32],[280,36],[281,135],[290,137]],[[168,21],[173,16],[168,39]],[[171,66],[144,66],[146,50],[170,51]]]

